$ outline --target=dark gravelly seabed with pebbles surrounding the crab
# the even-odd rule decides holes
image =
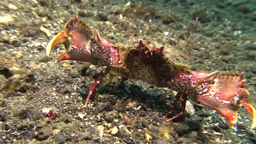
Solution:
[[[75,16],[110,43],[150,41],[192,70],[245,73],[255,105],[256,1],[3,0],[0,143],[256,143],[252,118],[242,109],[234,129],[193,100],[183,116],[164,122],[176,92],[143,81],[115,77],[111,85],[103,83],[97,104],[91,98],[84,111],[103,68],[55,64],[56,49],[51,57],[45,53],[53,35]],[[57,117],[47,119],[44,108]]]

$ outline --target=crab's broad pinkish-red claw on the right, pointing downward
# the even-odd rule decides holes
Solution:
[[[243,88],[244,83],[243,74],[219,75],[207,86],[207,91],[195,96],[195,100],[218,111],[228,120],[230,127],[236,121],[238,108],[243,107],[253,119],[253,129],[256,125],[255,110],[245,101],[249,93]]]

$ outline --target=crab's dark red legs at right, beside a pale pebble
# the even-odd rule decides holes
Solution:
[[[177,118],[177,117],[180,117],[180,116],[183,115],[184,112],[185,112],[185,107],[186,107],[186,102],[187,102],[187,94],[182,94],[181,92],[178,92],[178,93],[176,94],[175,98],[176,98],[176,99],[173,101],[172,106],[171,106],[171,108],[170,108],[170,112],[168,112],[168,113],[164,116],[164,118],[168,117],[168,116],[175,110],[175,108],[176,108],[176,106],[177,106],[177,104],[178,104],[179,101],[181,101],[181,106],[182,106],[181,112],[178,113],[176,116],[173,116],[173,117],[167,119],[165,122],[168,122],[168,121],[171,121],[172,119],[175,119],[175,118]]]

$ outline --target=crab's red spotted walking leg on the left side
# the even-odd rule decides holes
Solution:
[[[94,83],[92,84],[92,86],[90,88],[89,94],[87,95],[87,98],[85,100],[85,104],[84,104],[83,108],[87,107],[92,93],[94,93],[94,92],[95,92],[95,94],[97,93],[97,88],[100,87],[102,81],[104,81],[105,77],[108,74],[108,71],[109,71],[108,68],[106,68],[103,71],[101,71],[101,73],[97,76],[97,78],[95,79]]]

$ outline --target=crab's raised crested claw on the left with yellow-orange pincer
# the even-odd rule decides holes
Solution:
[[[66,23],[62,32],[50,40],[46,47],[46,55],[50,56],[51,50],[59,44],[64,44],[64,50],[59,50],[57,63],[63,60],[83,61],[97,64],[98,59],[93,56],[92,31],[78,17]]]

